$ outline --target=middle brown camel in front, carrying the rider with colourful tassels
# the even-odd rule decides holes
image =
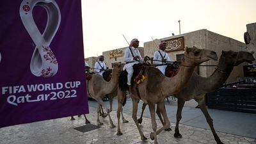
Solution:
[[[145,138],[143,132],[137,121],[137,110],[138,110],[138,102],[143,100],[143,102],[148,104],[151,120],[152,120],[152,129],[154,132],[150,134],[151,140],[154,140],[154,143],[157,142],[157,134],[163,131],[163,129],[167,129],[170,127],[170,122],[168,120],[168,116],[166,114],[166,109],[164,106],[164,99],[166,96],[179,93],[182,90],[182,87],[188,83],[189,78],[193,74],[193,71],[196,65],[200,65],[200,63],[204,61],[218,60],[218,56],[216,52],[210,51],[207,49],[198,49],[196,47],[185,47],[184,58],[182,59],[182,64],[179,68],[179,72],[176,76],[169,78],[165,77],[160,70],[155,67],[147,67],[144,71],[144,76],[147,77],[145,81],[141,84],[133,84],[132,92],[130,93],[132,98],[132,118],[140,132],[141,140],[147,140]],[[125,71],[124,71],[125,72]],[[122,77],[119,78],[119,81]],[[125,100],[124,95],[124,87],[120,86],[118,88],[118,121],[120,118],[120,111],[122,108],[122,102]],[[137,87],[137,88],[136,88]],[[136,90],[137,89],[137,90]],[[157,104],[157,108],[161,115],[164,117],[164,126],[161,129],[157,130],[156,124],[156,116],[155,116],[155,105]],[[118,132],[117,135],[122,134],[120,131],[120,125],[118,122]]]

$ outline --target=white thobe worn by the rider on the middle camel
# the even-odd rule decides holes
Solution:
[[[124,70],[126,70],[128,72],[127,74],[127,84],[128,85],[131,85],[131,79],[132,79],[132,73],[133,73],[133,65],[136,64],[136,63],[139,63],[139,62],[142,62],[143,61],[143,58],[141,58],[141,55],[140,55],[140,51],[134,47],[131,47],[131,50],[132,50],[132,53],[135,56],[139,56],[139,60],[136,61],[136,60],[133,60],[133,56],[132,56],[132,53],[129,49],[129,47],[127,47],[127,49],[125,49],[125,52],[124,52],[124,61],[127,63],[124,65]]]

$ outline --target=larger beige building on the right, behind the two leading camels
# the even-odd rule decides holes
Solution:
[[[154,41],[156,44],[159,44],[161,41],[166,41],[168,43],[166,50],[170,51],[168,52],[168,55],[172,61],[176,61],[182,57],[182,54],[184,54],[184,51],[182,51],[182,49],[184,49],[184,45],[187,45],[188,47],[195,46],[198,48],[211,49],[212,51],[216,51],[219,57],[222,50],[248,51],[247,49],[244,49],[246,45],[243,42],[239,42],[232,38],[228,38],[227,36],[213,33],[207,29],[201,29],[198,31],[192,31],[190,33],[184,33],[182,35],[161,38],[161,40],[156,39]],[[153,41],[145,42],[144,55],[152,58],[154,56],[154,52],[158,49],[156,44],[154,44]],[[202,63],[202,65],[217,65],[217,63],[218,61],[210,60]],[[238,81],[238,79],[243,77],[243,65],[247,65],[247,63],[242,63],[241,65],[234,67],[234,70],[227,79],[227,83]],[[214,72],[214,68],[215,67],[198,67],[198,73],[200,76],[209,77],[211,76],[212,72]]]

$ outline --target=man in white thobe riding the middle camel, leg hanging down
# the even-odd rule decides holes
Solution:
[[[131,79],[133,73],[133,65],[136,63],[143,62],[143,58],[141,58],[140,51],[137,49],[139,47],[139,41],[137,38],[132,39],[129,47],[125,49],[124,52],[124,61],[126,64],[124,65],[124,70],[127,71],[127,84],[129,85],[129,91],[131,92]]]

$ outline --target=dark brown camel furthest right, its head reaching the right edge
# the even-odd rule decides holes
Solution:
[[[201,77],[193,72],[188,84],[184,87],[184,89],[174,95],[178,99],[177,122],[174,137],[182,138],[182,135],[179,132],[179,122],[182,118],[181,113],[184,103],[188,100],[195,99],[196,102],[198,102],[199,104],[199,108],[204,113],[209,127],[211,128],[214,140],[218,144],[221,144],[222,142],[216,134],[216,131],[214,130],[212,118],[209,115],[205,106],[205,94],[209,92],[214,92],[215,90],[220,88],[223,83],[225,83],[235,66],[243,62],[252,63],[252,61],[254,60],[255,58],[253,58],[253,55],[250,52],[222,51],[216,70],[212,73],[210,77]],[[142,122],[142,115],[146,105],[147,104],[143,104],[141,117],[138,119],[138,122],[140,123]],[[159,116],[163,124],[163,119],[161,118],[161,114],[159,113],[159,111],[157,111],[157,115]]]

